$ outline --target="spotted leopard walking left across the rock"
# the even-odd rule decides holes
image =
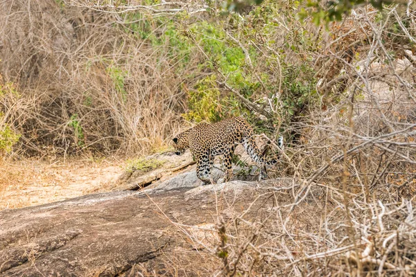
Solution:
[[[210,179],[211,169],[214,166],[214,157],[223,155],[225,167],[224,182],[232,177],[232,155],[236,145],[242,144],[251,159],[261,169],[261,177],[266,178],[263,170],[266,165],[275,165],[276,159],[266,161],[254,141],[254,131],[251,125],[241,116],[227,118],[217,123],[200,123],[173,139],[175,154],[182,155],[189,149],[196,161],[196,175],[202,185],[214,184]],[[277,145],[283,150],[283,137],[279,136]]]

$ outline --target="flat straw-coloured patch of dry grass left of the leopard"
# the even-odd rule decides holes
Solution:
[[[124,171],[120,161],[0,161],[0,210],[70,199],[105,190]]]

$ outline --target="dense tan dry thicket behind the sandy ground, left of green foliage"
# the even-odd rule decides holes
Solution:
[[[0,70],[22,103],[7,122],[21,151],[144,154],[178,128],[187,72],[173,66],[168,42],[150,45],[119,15],[61,1],[3,1],[0,10]]]

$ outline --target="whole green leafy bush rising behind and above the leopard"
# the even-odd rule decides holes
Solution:
[[[266,120],[260,120],[259,114],[243,105],[233,92],[220,91],[220,82],[212,82],[210,76],[198,81],[189,91],[189,112],[185,118],[213,122],[243,115],[255,132],[272,134],[278,132],[274,118],[284,118],[279,119],[279,126],[291,125],[305,116],[311,105],[317,105],[317,80],[309,54],[320,51],[321,38],[297,28],[287,33],[285,43],[279,48],[275,42],[281,36],[276,17],[298,10],[299,6],[300,2],[294,1],[282,10],[278,3],[265,1],[261,6],[252,6],[245,17],[228,13],[216,21],[197,21],[189,26],[192,41],[205,53],[206,60],[200,69],[211,71],[220,82],[227,82],[262,109],[270,107],[268,99],[275,101],[275,107],[280,108],[278,116],[268,109],[269,115],[264,113]],[[288,17],[293,19],[295,16]],[[288,59],[287,55],[295,58]],[[286,60],[292,60],[293,64]]]

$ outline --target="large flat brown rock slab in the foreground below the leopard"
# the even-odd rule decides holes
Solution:
[[[270,186],[287,186],[287,181],[232,181],[188,188],[198,185],[187,183],[192,172],[181,178],[148,190],[0,211],[0,275],[135,276],[144,270],[158,275],[169,270],[169,259],[180,262],[184,271],[211,275],[189,257],[208,255],[201,247],[205,240],[215,249],[218,215],[231,217],[256,199],[256,213],[244,216],[261,220],[259,211],[274,201],[265,192]]]

